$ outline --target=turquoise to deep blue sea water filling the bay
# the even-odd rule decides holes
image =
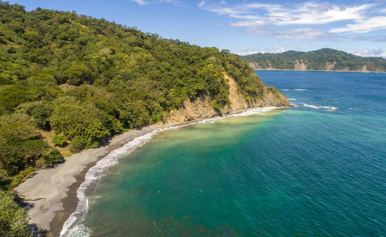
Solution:
[[[256,72],[298,107],[154,134],[69,232],[385,236],[386,74]]]

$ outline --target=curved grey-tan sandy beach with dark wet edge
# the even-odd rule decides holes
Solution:
[[[221,116],[238,114],[254,108],[260,107],[232,111]],[[209,118],[215,117],[218,116]],[[166,123],[163,125],[149,125],[142,129],[132,129],[111,137],[104,145],[98,148],[86,149],[80,153],[73,154],[67,157],[64,163],[54,168],[37,171],[34,176],[28,178],[15,188],[19,196],[33,206],[28,212],[31,217],[30,223],[37,224],[40,228],[48,230],[47,236],[49,237],[59,236],[64,223],[78,206],[78,188],[85,182],[88,170],[94,167],[99,160],[107,156],[111,151],[152,131],[188,125],[209,118]]]

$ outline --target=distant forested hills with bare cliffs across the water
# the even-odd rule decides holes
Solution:
[[[360,57],[335,49],[309,52],[257,53],[241,56],[254,69],[386,72],[386,59]]]

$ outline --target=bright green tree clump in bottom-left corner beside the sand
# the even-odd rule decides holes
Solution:
[[[28,215],[10,191],[0,190],[0,236],[30,237]]]

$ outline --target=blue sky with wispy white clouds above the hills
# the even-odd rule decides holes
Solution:
[[[386,0],[223,1],[223,0],[18,0],[25,6],[76,11],[188,41],[257,52],[343,50],[386,58]]]

